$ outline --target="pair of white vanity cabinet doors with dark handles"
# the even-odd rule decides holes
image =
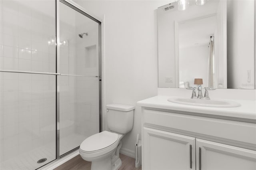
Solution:
[[[256,170],[256,151],[143,128],[145,170]]]

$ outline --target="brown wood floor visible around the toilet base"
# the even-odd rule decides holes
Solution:
[[[141,166],[139,168],[135,168],[135,159],[124,154],[120,154],[120,159],[122,160],[122,166],[118,170],[141,170]],[[87,162],[81,158],[80,155],[72,158],[68,162],[62,164],[55,170],[90,170],[91,162]]]

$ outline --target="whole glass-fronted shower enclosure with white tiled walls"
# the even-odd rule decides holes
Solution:
[[[101,131],[101,22],[69,0],[0,0],[0,169],[35,170]]]

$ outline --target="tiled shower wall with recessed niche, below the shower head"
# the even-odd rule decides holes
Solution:
[[[92,20],[76,26],[76,34],[88,33],[76,40],[76,72],[86,76],[99,75],[98,24]],[[90,136],[99,132],[98,77],[76,77],[76,132]]]

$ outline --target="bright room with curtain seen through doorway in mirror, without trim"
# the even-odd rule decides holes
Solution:
[[[179,87],[194,86],[196,77],[204,80],[204,87],[214,87],[213,37],[217,34],[216,14],[179,22],[177,28]]]

